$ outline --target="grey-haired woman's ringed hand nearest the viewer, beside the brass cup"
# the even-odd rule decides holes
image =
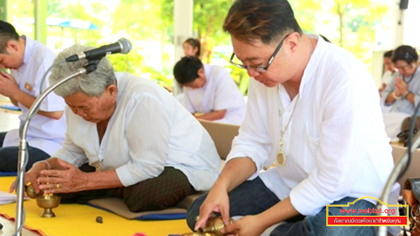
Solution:
[[[42,170],[39,189],[44,193],[71,193],[86,190],[87,173],[66,161],[57,160],[62,170]]]

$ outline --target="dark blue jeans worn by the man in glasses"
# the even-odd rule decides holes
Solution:
[[[207,194],[197,198],[190,206],[187,212],[187,223],[188,227],[192,230],[195,226],[195,216],[198,216],[200,212],[200,206],[206,199]],[[334,205],[346,205],[347,202],[353,202],[356,198],[343,198],[336,202],[332,202]],[[259,214],[264,212],[269,207],[276,205],[280,200],[277,198],[272,191],[269,191],[262,180],[257,177],[251,181],[246,181],[243,184],[237,186],[229,193],[229,204],[230,204],[230,216],[246,216]],[[370,202],[365,200],[358,200],[354,205],[345,207],[345,209],[367,209],[374,208]],[[356,215],[374,215],[374,214],[342,214],[339,209],[343,207],[329,207],[328,215],[331,216],[356,216]],[[270,236],[328,236],[328,235],[349,235],[349,236],[374,236],[374,227],[372,226],[326,226],[326,207],[323,207],[321,212],[315,216],[297,216],[293,219],[289,219],[286,223],[277,226],[271,233]]]

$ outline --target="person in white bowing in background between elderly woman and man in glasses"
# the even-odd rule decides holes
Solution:
[[[183,105],[197,119],[241,124],[246,103],[225,68],[183,57],[174,67],[174,77],[184,87]]]

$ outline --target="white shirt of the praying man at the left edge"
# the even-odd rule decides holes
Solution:
[[[55,54],[48,47],[26,37],[23,64],[18,70],[11,70],[10,75],[15,78],[20,90],[36,97],[40,94],[39,88],[43,75],[52,65],[54,59]],[[49,86],[50,82],[47,77],[43,83],[43,91]],[[22,110],[22,114],[19,116],[22,124],[29,109],[21,103],[18,103],[18,106]],[[65,106],[64,99],[52,92],[42,101],[40,110],[44,112],[64,111]],[[61,147],[65,131],[66,120],[64,115],[57,120],[36,114],[29,122],[27,140],[31,147],[36,147],[52,155]],[[18,129],[8,131],[3,147],[18,146],[19,141]]]

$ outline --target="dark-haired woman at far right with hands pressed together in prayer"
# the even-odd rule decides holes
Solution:
[[[398,69],[393,80],[381,94],[381,104],[391,106],[390,112],[404,112],[413,115],[420,101],[420,70],[417,70],[419,55],[409,45],[397,47],[392,62]]]

